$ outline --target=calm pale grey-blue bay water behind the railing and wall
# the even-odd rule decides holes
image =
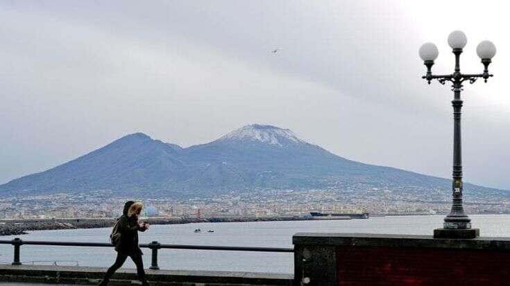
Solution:
[[[237,247],[292,247],[292,235],[314,233],[390,233],[431,235],[441,226],[443,215],[371,217],[368,220],[309,220],[292,222],[221,222],[197,224],[153,225],[140,233],[140,243],[158,241],[164,244],[194,244]],[[484,237],[510,237],[510,215],[471,215],[473,227]],[[194,233],[201,229],[201,233]],[[207,233],[208,230],[214,233]],[[0,237],[0,240],[108,242],[111,229],[72,229],[31,231],[28,235]],[[144,265],[151,263],[150,249],[142,249]],[[0,262],[12,262],[12,246],[0,244]],[[109,267],[114,249],[104,247],[48,247],[23,245],[21,260],[26,264],[80,265]],[[67,261],[65,261],[67,260]],[[293,273],[292,253],[245,251],[203,251],[160,249],[161,269],[221,270]],[[135,268],[128,260],[126,268]]]

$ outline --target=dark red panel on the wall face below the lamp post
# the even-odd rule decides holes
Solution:
[[[337,247],[339,286],[510,285],[510,252]]]

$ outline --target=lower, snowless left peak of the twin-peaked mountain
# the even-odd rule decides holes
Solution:
[[[137,190],[177,175],[183,163],[179,148],[142,133],[130,134],[56,168],[0,186],[10,192],[66,190]]]

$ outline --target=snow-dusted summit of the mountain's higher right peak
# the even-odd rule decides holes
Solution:
[[[305,143],[289,129],[282,129],[272,125],[252,124],[236,129],[218,139],[218,141],[260,141],[271,145],[283,146],[287,142]]]

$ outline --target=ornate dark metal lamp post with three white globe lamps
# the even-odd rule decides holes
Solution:
[[[462,206],[462,153],[461,153],[461,91],[465,81],[473,84],[478,78],[483,78],[485,82],[491,75],[488,73],[488,65],[496,53],[496,48],[492,42],[483,41],[477,46],[477,54],[484,64],[483,73],[466,74],[461,73],[460,55],[462,49],[466,46],[468,39],[466,35],[459,30],[453,31],[448,36],[448,44],[452,47],[455,55],[454,72],[447,75],[433,75],[432,66],[434,60],[439,55],[436,45],[425,43],[420,47],[419,55],[427,66],[427,73],[423,76],[430,84],[432,80],[438,80],[441,84],[445,82],[452,83],[453,91],[453,172],[452,172],[452,210],[444,219],[442,229],[434,229],[434,238],[477,238],[479,229],[471,228],[471,220],[464,213]]]

